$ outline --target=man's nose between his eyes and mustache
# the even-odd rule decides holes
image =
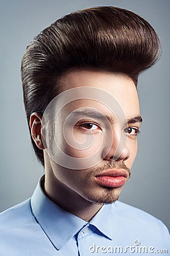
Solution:
[[[130,152],[126,146],[127,139],[128,137],[121,133],[120,129],[113,129],[112,144],[108,147],[106,143],[103,150],[103,159],[108,161],[127,160],[130,156]]]

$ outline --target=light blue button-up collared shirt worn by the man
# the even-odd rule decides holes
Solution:
[[[170,255],[162,221],[119,201],[86,222],[37,185],[31,199],[0,214],[1,256]],[[168,251],[168,253],[167,253]]]

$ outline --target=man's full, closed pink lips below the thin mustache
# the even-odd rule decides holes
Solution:
[[[109,188],[118,188],[125,184],[128,172],[124,169],[109,169],[95,176],[96,183]]]

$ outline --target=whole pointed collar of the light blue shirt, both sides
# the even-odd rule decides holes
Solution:
[[[42,183],[44,183],[44,176],[41,177],[31,198],[32,213],[46,236],[59,250],[88,222],[54,204],[42,191]],[[95,233],[100,233],[101,236],[112,240],[111,222],[113,221],[111,215],[112,206],[104,205],[89,222],[89,225],[94,227],[92,229]]]

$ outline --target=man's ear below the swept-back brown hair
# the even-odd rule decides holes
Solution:
[[[31,136],[36,146],[41,150],[44,150],[44,145],[41,138],[41,123],[42,117],[40,113],[34,112],[29,118],[29,127],[31,129]]]

